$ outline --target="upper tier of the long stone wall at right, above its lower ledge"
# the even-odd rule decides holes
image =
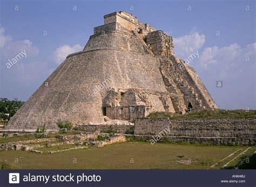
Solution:
[[[170,136],[256,137],[256,119],[169,120],[161,118],[142,119],[135,122],[134,134],[157,135],[161,132]]]

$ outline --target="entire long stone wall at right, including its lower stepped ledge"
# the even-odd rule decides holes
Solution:
[[[141,119],[134,124],[134,135],[165,137],[171,142],[254,145],[256,119]]]

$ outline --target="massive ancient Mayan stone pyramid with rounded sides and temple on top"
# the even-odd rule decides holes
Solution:
[[[201,108],[218,107],[196,71],[173,56],[172,37],[120,11],[104,16],[83,51],[69,54],[6,128],[133,121]]]

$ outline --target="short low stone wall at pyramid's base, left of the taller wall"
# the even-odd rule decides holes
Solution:
[[[94,133],[99,131],[100,133],[118,133],[118,134],[133,134],[134,125],[124,125],[124,124],[86,124],[79,125],[76,127],[77,130],[83,130],[86,132]]]

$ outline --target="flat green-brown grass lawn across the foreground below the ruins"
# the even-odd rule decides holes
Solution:
[[[89,147],[48,154],[49,150],[75,146],[41,148],[43,154],[29,151],[0,151],[0,162],[17,169],[208,169],[236,150],[233,156],[218,164],[219,169],[248,147],[203,146],[191,144],[123,142],[101,148]],[[247,155],[255,147],[247,151]],[[18,158],[18,163],[15,163]],[[239,156],[235,165],[241,160]],[[6,160],[6,161],[5,161]],[[16,160],[17,161],[17,160]],[[229,166],[230,166],[229,165]]]

